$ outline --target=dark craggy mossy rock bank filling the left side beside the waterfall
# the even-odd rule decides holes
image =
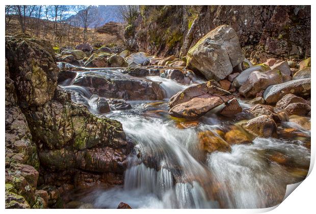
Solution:
[[[6,38],[6,208],[55,207],[73,186],[123,182],[129,146],[121,124],[73,103],[45,48]]]

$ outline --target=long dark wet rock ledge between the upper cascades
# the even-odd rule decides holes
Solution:
[[[159,83],[148,79],[131,77],[111,71],[81,72],[74,79],[74,85],[87,87],[92,94],[101,97],[125,100],[162,100],[164,91]]]

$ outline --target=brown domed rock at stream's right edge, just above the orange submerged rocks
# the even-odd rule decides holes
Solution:
[[[254,136],[276,137],[277,125],[270,115],[261,115],[242,124],[242,127]]]

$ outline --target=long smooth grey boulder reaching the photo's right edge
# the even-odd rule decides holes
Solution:
[[[267,103],[276,103],[286,94],[306,97],[310,95],[310,78],[295,79],[286,83],[269,86],[264,93]]]

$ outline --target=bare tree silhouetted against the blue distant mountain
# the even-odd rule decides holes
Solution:
[[[88,26],[92,21],[91,5],[79,5],[75,7],[78,21],[84,28],[84,42],[88,41]]]

